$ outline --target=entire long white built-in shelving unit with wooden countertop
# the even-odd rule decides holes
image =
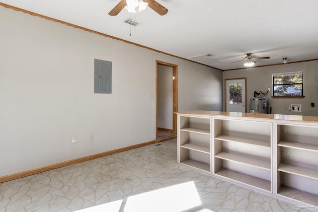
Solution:
[[[180,112],[177,141],[180,164],[318,210],[318,117]]]

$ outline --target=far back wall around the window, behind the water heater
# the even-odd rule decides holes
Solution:
[[[283,73],[292,71],[304,71],[303,75],[303,99],[273,99],[272,93],[272,74]],[[259,67],[247,69],[224,71],[223,79],[246,77],[247,83],[247,101],[249,97],[253,97],[254,91],[266,92],[267,88],[270,88],[270,92],[267,94],[269,106],[272,107],[272,113],[274,114],[292,114],[292,115],[308,115],[318,116],[318,60],[311,62],[282,64],[277,66]],[[311,106],[311,103],[315,103],[315,107]],[[288,110],[290,104],[301,104],[302,112],[291,112]],[[247,104],[249,111],[249,105]]]

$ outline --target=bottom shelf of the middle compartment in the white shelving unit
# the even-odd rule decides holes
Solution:
[[[239,183],[248,184],[257,188],[264,189],[266,191],[271,191],[271,183],[267,180],[263,180],[257,177],[253,177],[247,174],[239,173],[225,168],[220,169],[216,172],[216,174],[237,181]]]

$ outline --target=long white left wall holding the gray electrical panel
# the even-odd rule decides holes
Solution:
[[[179,110],[222,110],[221,71],[4,7],[0,31],[0,176],[155,140],[156,60],[178,65]]]

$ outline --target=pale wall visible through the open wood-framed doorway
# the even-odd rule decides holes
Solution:
[[[158,65],[157,71],[157,127],[172,130],[173,84],[172,68]]]

